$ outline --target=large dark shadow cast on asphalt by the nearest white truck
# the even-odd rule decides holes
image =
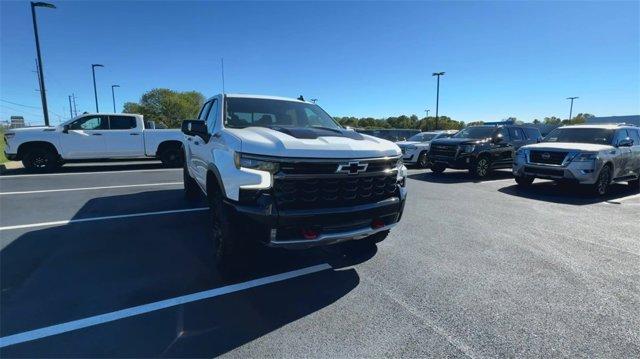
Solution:
[[[142,192],[94,198],[74,218],[149,197]],[[366,261],[377,251],[261,248],[230,281],[215,269],[207,223],[207,212],[199,211],[3,233],[0,336],[321,263],[332,268],[6,347],[1,356],[220,355],[339,300],[360,282],[355,269],[340,268]]]

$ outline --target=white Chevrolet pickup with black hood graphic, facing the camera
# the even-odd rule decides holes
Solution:
[[[223,268],[241,262],[252,242],[376,243],[402,216],[400,148],[342,128],[313,103],[218,95],[182,131],[185,195],[206,196]]]

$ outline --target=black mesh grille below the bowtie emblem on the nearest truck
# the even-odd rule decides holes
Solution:
[[[334,208],[378,202],[398,195],[395,172],[369,176],[276,178],[279,209]]]

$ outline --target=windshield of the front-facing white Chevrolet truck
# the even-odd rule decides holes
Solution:
[[[315,127],[341,130],[319,106],[295,101],[262,98],[226,98],[224,125],[245,127]]]

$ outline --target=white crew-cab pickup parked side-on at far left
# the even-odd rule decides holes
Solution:
[[[57,127],[27,127],[5,133],[5,155],[31,171],[52,170],[72,160],[158,158],[182,164],[180,130],[146,129],[142,115],[83,114]]]

